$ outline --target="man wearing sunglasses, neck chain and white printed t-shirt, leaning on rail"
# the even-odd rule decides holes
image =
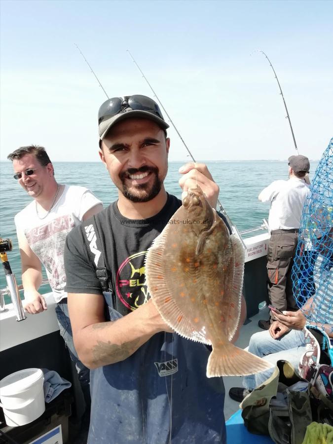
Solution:
[[[44,265],[56,304],[56,316],[86,402],[82,429],[89,425],[90,371],[77,357],[65,291],[64,246],[66,235],[81,221],[103,209],[90,190],[83,186],[60,185],[45,148],[36,145],[21,147],[7,158],[13,162],[14,179],[27,191],[33,201],[15,216],[22,262],[25,310],[30,314],[47,309],[38,288]]]

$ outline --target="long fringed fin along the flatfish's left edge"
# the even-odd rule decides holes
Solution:
[[[146,254],[146,282],[149,295],[163,320],[178,334],[193,341],[211,344],[206,338],[205,332],[195,330],[193,324],[170,296],[167,279],[163,271],[165,261],[163,253],[167,234],[168,229],[163,230],[155,238]]]

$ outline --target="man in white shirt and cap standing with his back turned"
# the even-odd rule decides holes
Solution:
[[[309,193],[309,159],[302,155],[290,156],[289,180],[274,181],[259,194],[261,202],[270,202],[268,224],[271,237],[267,252],[268,295],[271,304],[280,311],[298,309],[293,296],[291,272],[296,254],[297,237],[305,199]],[[268,330],[275,320],[258,325]]]

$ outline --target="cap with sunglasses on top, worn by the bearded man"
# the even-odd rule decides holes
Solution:
[[[133,117],[152,120],[163,130],[169,128],[159,106],[149,97],[139,94],[113,97],[102,103],[98,111],[98,133],[100,140],[105,138],[115,123]]]

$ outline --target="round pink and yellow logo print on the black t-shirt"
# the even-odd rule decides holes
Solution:
[[[150,299],[144,264],[146,253],[147,251],[141,251],[125,259],[117,271],[116,294],[130,310],[135,310]]]

